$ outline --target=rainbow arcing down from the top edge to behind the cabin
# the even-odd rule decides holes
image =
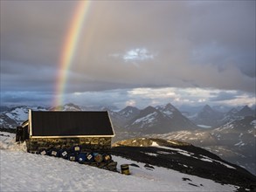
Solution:
[[[66,32],[64,44],[59,57],[59,71],[55,85],[55,96],[52,106],[63,105],[68,71],[73,62],[74,53],[80,38],[84,21],[88,15],[91,1],[79,1],[74,10],[73,18]]]

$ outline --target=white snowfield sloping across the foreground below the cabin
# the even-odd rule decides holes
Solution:
[[[145,168],[144,163],[113,156],[129,166],[131,175],[107,171],[61,158],[29,154],[14,143],[13,134],[0,133],[0,191],[235,191],[208,179],[168,168]]]

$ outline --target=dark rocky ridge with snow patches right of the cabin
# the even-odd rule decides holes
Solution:
[[[240,191],[246,188],[256,190],[255,175],[189,143],[141,138],[115,143],[112,154],[144,162],[149,169],[154,166],[171,168],[222,184],[238,185]]]

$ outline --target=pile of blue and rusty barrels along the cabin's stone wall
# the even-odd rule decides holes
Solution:
[[[72,148],[42,148],[37,154],[49,155],[63,158],[69,161],[76,161],[80,164],[86,164],[97,168],[103,168],[110,171],[117,171],[117,162],[112,160],[111,154],[99,152],[84,152],[79,145]]]

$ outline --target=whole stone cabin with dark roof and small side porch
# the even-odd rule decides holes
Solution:
[[[31,111],[29,120],[17,127],[16,141],[27,151],[80,146],[82,152],[107,151],[114,129],[107,111]]]

